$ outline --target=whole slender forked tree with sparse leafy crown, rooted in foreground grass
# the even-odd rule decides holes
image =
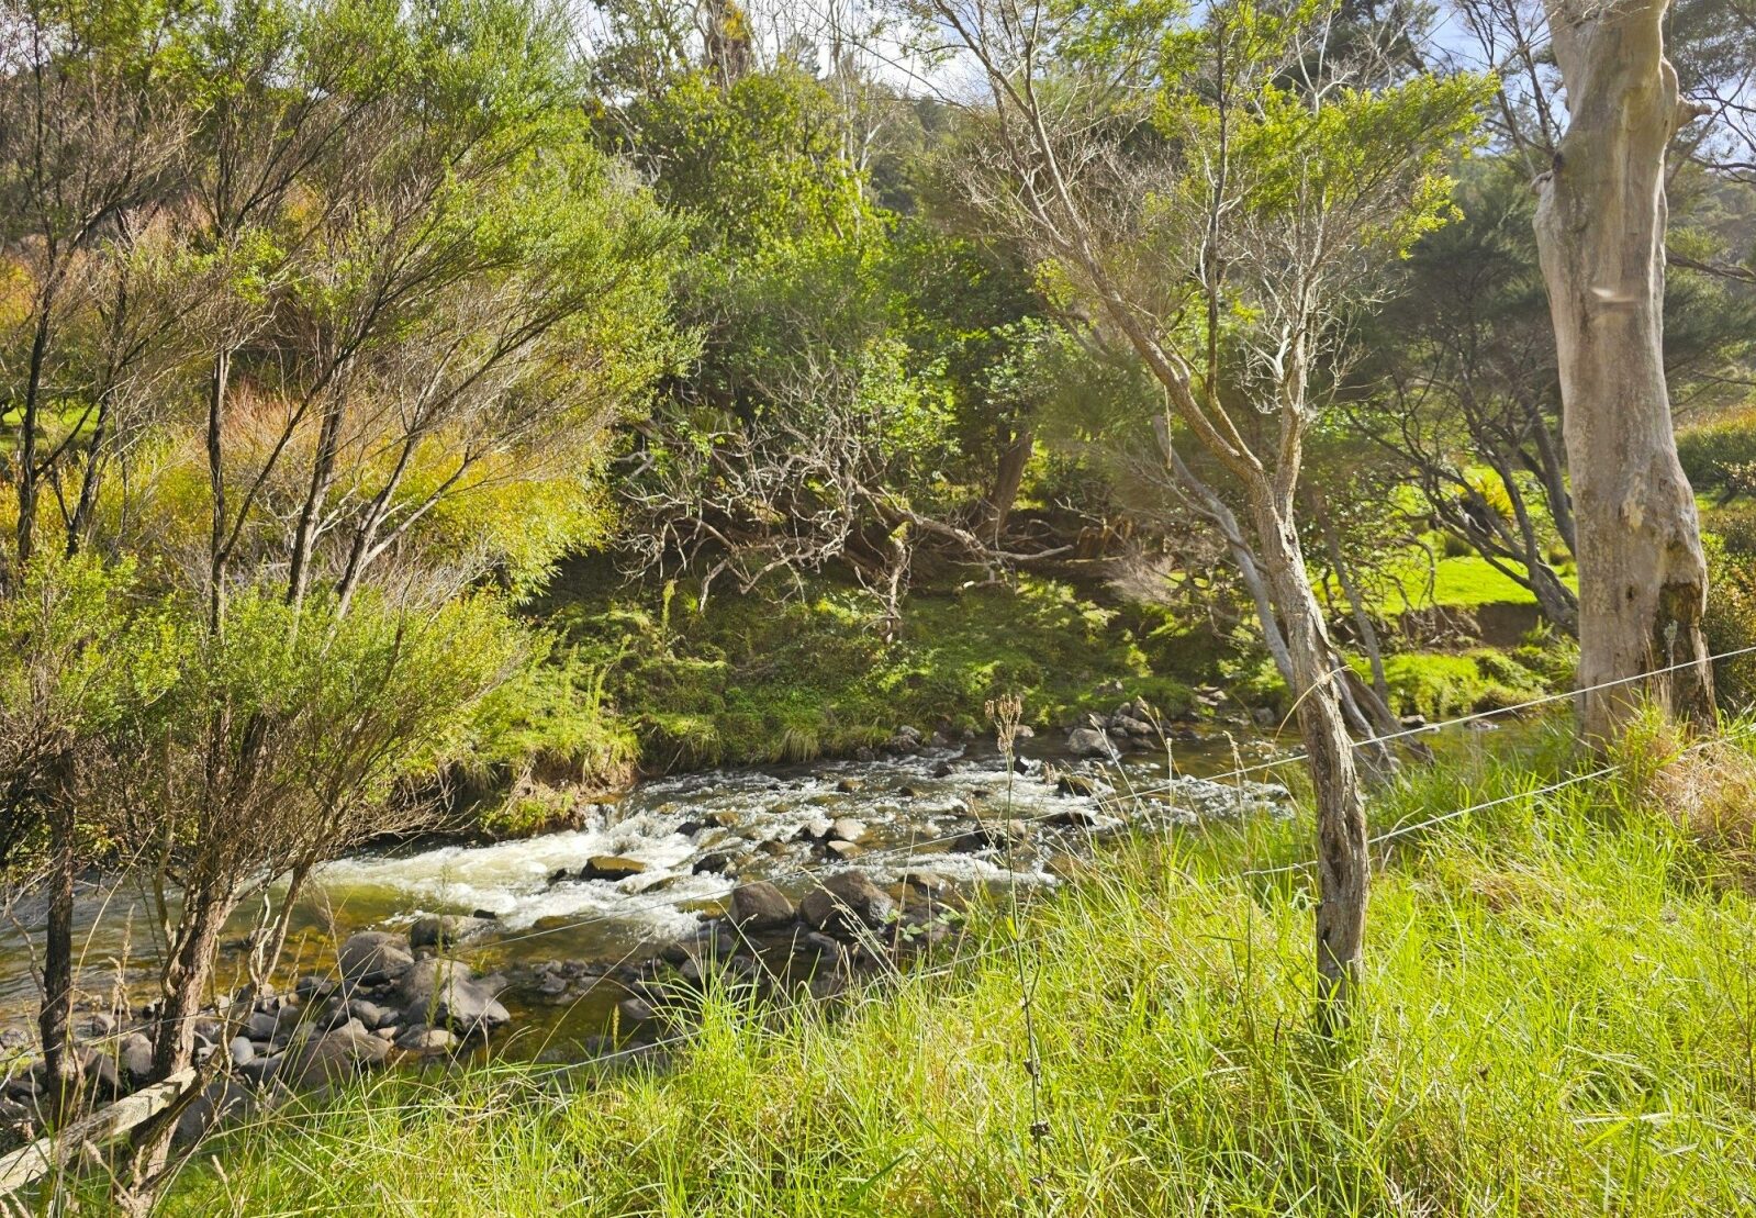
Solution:
[[[990,109],[969,190],[1052,260],[1236,481],[1285,634],[1317,792],[1326,1021],[1361,969],[1368,856],[1342,676],[1305,569],[1298,484],[1322,381],[1387,256],[1443,218],[1479,81],[1389,82],[1335,11],[936,0]],[[1333,54],[1331,54],[1333,51]]]

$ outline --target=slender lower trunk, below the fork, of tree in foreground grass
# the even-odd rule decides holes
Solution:
[[[1250,516],[1285,627],[1299,735],[1317,793],[1319,1020],[1335,1028],[1347,1021],[1359,988],[1370,876],[1366,809],[1342,711],[1342,677],[1331,667],[1329,634],[1305,572],[1298,530],[1278,511],[1266,481],[1250,486]]]

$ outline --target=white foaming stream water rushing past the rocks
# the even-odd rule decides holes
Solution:
[[[1057,737],[1059,739],[1059,737]],[[925,748],[874,762],[817,762],[732,769],[651,779],[592,809],[578,828],[516,841],[400,842],[337,860],[307,886],[295,914],[284,971],[323,974],[335,944],[362,928],[407,930],[428,914],[483,916],[469,944],[483,967],[507,979],[506,1004],[520,1035],[553,1057],[557,1035],[583,1039],[602,1028],[602,1004],[558,1004],[539,983],[550,962],[639,960],[690,935],[704,909],[715,909],[741,881],[769,879],[797,897],[815,876],[855,867],[876,883],[908,879],[971,888],[1006,881],[1055,883],[1057,863],[1090,846],[1094,828],[1119,825],[1126,806],[1138,828],[1191,825],[1203,818],[1257,814],[1284,807],[1280,792],[1259,783],[1220,785],[1226,774],[1278,755],[1266,741],[1234,748],[1227,735],[1175,746],[1175,779],[1166,751],[1136,751],[1113,765],[1068,756],[1047,741],[1020,741],[1020,765],[1008,770],[992,746]],[[1085,793],[1073,772],[1141,799],[1106,800]],[[1271,779],[1273,774],[1254,774]],[[982,825],[1024,821],[1015,842],[983,844]],[[831,832],[834,827],[834,832]],[[827,837],[855,846],[827,849]],[[581,879],[595,856],[629,860],[634,874]],[[155,974],[155,932],[146,893],[126,881],[93,885],[79,900],[81,990],[100,997],[118,988],[148,995]],[[253,909],[239,913],[234,937]],[[0,1028],[16,1042],[37,999],[32,944],[40,911],[25,907],[0,934]],[[529,1035],[539,1032],[541,1035]]]

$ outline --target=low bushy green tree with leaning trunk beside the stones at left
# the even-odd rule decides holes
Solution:
[[[220,934],[256,906],[242,1021],[272,974],[304,881],[318,863],[432,820],[432,767],[455,756],[471,714],[520,651],[492,597],[397,602],[325,591],[291,607],[241,590],[223,632],[200,598],[155,614],[153,697],[123,704],[111,763],[93,785],[97,820],[153,856],[146,872],[163,928],[153,1074],[195,1065],[195,1018],[216,988]],[[270,886],[284,888],[270,899]],[[235,1032],[228,1032],[232,1035]],[[183,1097],[133,1132],[118,1200],[146,1211],[165,1178],[177,1116],[223,1067],[209,1058]]]

